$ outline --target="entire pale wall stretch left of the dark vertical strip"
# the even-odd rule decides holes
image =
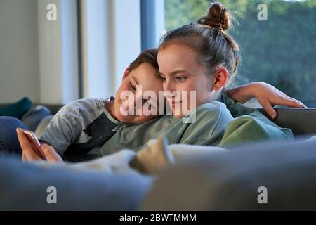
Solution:
[[[48,4],[58,8],[48,21]],[[0,103],[79,97],[76,0],[0,0]]]

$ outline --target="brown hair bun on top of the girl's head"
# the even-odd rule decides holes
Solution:
[[[214,3],[209,8],[209,13],[197,20],[197,23],[224,31],[230,27],[230,16],[224,6]]]

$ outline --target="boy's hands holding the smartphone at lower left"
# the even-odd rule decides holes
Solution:
[[[43,160],[39,155],[37,155],[37,153],[35,153],[31,141],[27,139],[27,136],[25,136],[22,132],[22,129],[17,128],[16,131],[22,148],[22,161],[32,162],[36,160]],[[46,143],[41,143],[41,150],[49,162],[62,162],[62,158],[52,146],[49,146]]]

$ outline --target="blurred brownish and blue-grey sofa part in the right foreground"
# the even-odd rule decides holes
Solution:
[[[316,139],[239,146],[158,176],[140,210],[316,210]]]

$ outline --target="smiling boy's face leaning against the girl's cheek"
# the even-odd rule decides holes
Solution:
[[[150,63],[141,63],[123,79],[117,90],[115,116],[126,124],[142,124],[152,120],[158,115],[159,91],[162,91],[162,79],[157,69]],[[152,98],[153,95],[157,98]],[[150,100],[147,101],[146,96],[150,96]]]

